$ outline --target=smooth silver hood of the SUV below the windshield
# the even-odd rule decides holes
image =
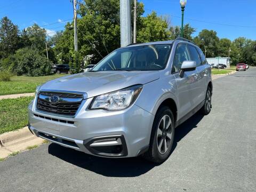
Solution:
[[[40,90],[84,92],[87,98],[146,84],[159,78],[158,71],[97,71],[69,75],[46,82]]]

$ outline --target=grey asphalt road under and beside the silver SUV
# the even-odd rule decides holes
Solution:
[[[256,191],[256,68],[213,86],[211,113],[175,130],[161,165],[45,144],[0,162],[0,191]]]

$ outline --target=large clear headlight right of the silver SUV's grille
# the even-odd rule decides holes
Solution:
[[[95,97],[90,109],[122,110],[126,109],[138,98],[143,85],[135,85],[115,92]]]

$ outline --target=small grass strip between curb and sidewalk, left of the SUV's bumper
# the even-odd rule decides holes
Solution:
[[[0,100],[0,134],[28,124],[28,104],[34,97]]]

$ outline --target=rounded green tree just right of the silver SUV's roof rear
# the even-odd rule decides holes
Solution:
[[[207,57],[218,56],[219,37],[217,32],[213,30],[203,29],[198,36],[194,38],[194,42],[204,51],[206,49]]]

